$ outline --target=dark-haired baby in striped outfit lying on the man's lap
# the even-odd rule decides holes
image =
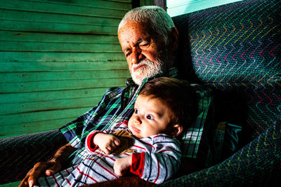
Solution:
[[[148,81],[139,92],[129,121],[110,131],[91,132],[80,165],[39,183],[81,186],[117,179],[127,172],[162,183],[181,165],[181,144],[176,137],[188,129],[196,114],[196,92],[189,83],[166,77]]]

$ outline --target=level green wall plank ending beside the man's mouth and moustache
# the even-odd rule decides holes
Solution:
[[[0,62],[0,72],[91,71],[119,69],[128,69],[127,62]]]

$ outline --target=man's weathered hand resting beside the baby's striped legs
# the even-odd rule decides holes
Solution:
[[[55,162],[38,162],[29,172],[27,172],[25,179],[22,180],[19,187],[32,187],[36,184],[37,179],[44,175],[44,172],[46,176],[50,176],[60,171],[60,169],[61,165]]]

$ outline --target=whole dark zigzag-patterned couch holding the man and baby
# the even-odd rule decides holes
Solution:
[[[215,123],[251,127],[252,137],[245,133],[251,141],[229,158],[162,186],[281,182],[280,12],[279,0],[247,0],[173,18],[180,32],[177,62],[183,78],[214,91]],[[65,143],[58,131],[1,139],[0,183],[22,179]]]

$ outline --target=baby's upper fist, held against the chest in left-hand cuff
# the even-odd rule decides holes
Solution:
[[[109,155],[120,145],[120,140],[112,134],[98,133],[93,138],[93,144]]]

